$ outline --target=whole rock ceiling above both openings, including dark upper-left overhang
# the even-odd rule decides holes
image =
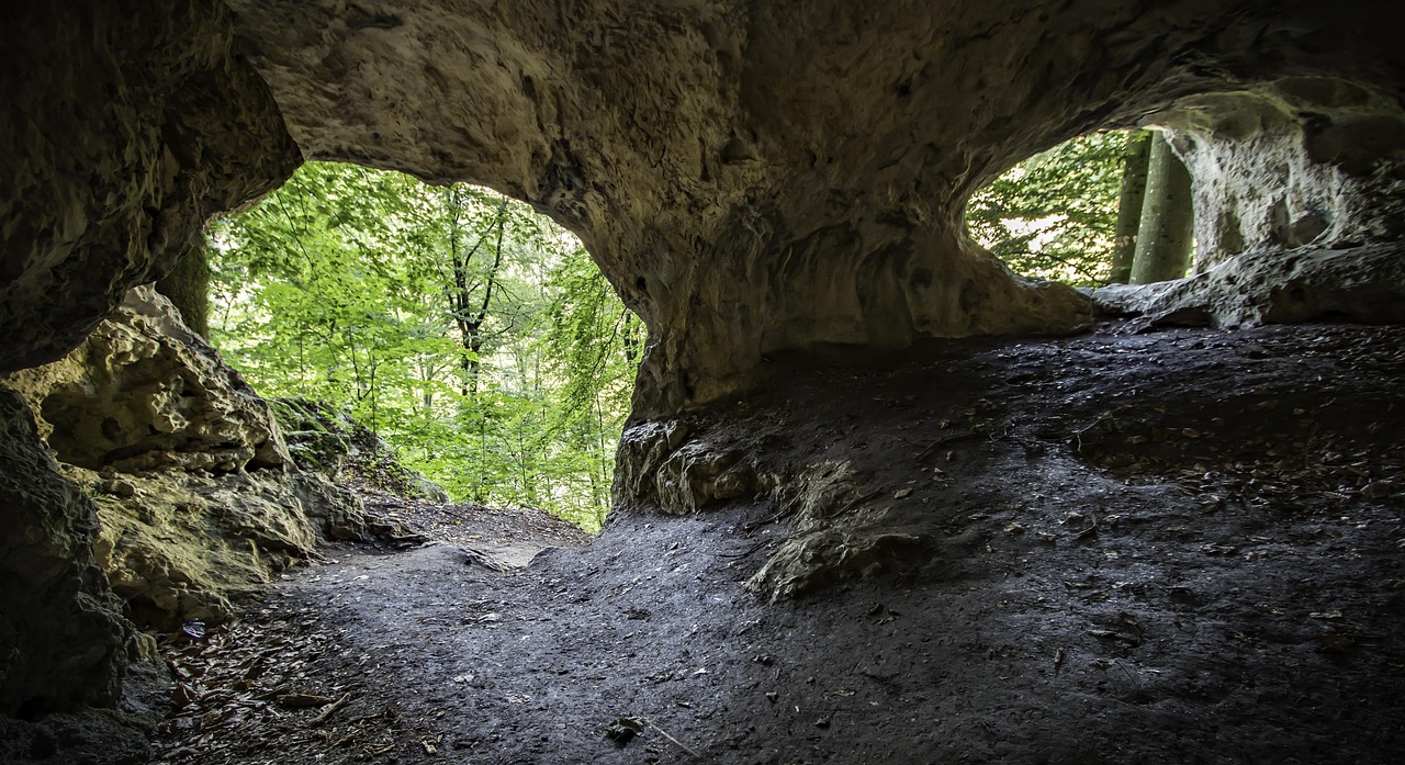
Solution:
[[[205,215],[257,197],[298,154],[482,182],[575,230],[651,327],[641,415],[736,393],[767,352],[1086,326],[1085,298],[1013,277],[965,236],[961,212],[1005,167],[1089,129],[1158,119],[1194,139],[1182,146],[1197,175],[1207,264],[1235,247],[1399,234],[1388,220],[1405,55],[1380,15],[1402,11],[899,0],[228,8],[133,27],[133,44],[180,41],[166,46],[173,56],[100,41],[126,63],[98,74],[118,83],[118,101],[145,109],[132,126],[146,132],[98,128],[136,143],[108,138],[74,160],[101,170],[86,195],[39,174],[35,194],[70,197],[48,211],[11,199],[11,213],[34,219],[7,236],[11,319],[35,314],[60,281],[65,303],[77,305],[22,333],[17,345],[34,350],[11,351],[7,366],[76,342],[122,289],[164,271]],[[63,27],[63,13],[105,18],[83,6],[28,21]],[[1360,53],[1332,55],[1346,49]],[[176,76],[121,87],[157,59]],[[27,60],[17,72],[44,66]],[[60,86],[80,72],[39,81],[73,105],[83,94]],[[1248,97],[1232,93],[1260,107],[1276,100],[1272,119],[1245,119]],[[34,109],[13,125],[80,129],[59,108]],[[1284,132],[1277,150],[1293,157],[1288,170],[1246,173],[1260,187],[1273,175],[1283,194],[1227,185],[1234,168],[1224,163],[1266,166],[1252,139]],[[63,159],[56,142],[39,146],[15,149],[11,161]],[[124,206],[140,194],[100,157],[133,152],[140,167],[122,177],[164,180],[167,212]],[[1246,206],[1256,212],[1238,215]],[[1319,208],[1336,216],[1324,220]],[[70,219],[84,220],[83,236],[38,236]],[[138,239],[132,226],[169,236]]]

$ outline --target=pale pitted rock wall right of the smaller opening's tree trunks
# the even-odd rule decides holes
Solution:
[[[1378,91],[1293,77],[1182,98],[1149,119],[1170,129],[1194,180],[1196,271],[1405,233],[1405,111]]]

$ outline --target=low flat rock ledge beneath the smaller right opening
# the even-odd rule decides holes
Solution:
[[[1184,279],[1114,285],[1092,296],[1106,313],[1137,317],[1132,330],[1314,319],[1399,323],[1405,321],[1405,247],[1246,253]]]

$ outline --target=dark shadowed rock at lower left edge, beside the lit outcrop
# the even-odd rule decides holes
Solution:
[[[0,716],[117,699],[132,625],[93,559],[97,511],[0,387]]]

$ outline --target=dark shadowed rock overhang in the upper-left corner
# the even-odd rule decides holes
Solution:
[[[211,213],[301,161],[221,3],[10,4],[0,24],[0,372],[56,361]]]

